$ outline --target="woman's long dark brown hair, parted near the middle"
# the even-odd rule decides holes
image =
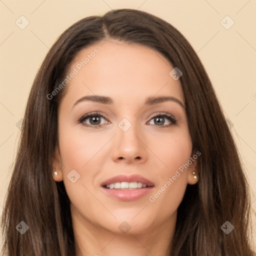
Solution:
[[[75,255],[69,198],[52,178],[58,146],[58,105],[66,87],[48,99],[74,56],[95,42],[114,38],[140,43],[165,55],[182,71],[193,149],[201,152],[199,180],[187,185],[178,207],[171,256],[252,256],[249,186],[225,117],[199,58],[166,21],[134,9],[90,16],[67,28],[50,48],[33,81],[19,147],[6,194],[2,253],[9,256]],[[20,234],[16,225],[29,229]],[[221,230],[225,221],[234,229]]]

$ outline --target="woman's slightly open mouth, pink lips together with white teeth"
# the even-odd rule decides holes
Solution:
[[[101,187],[111,198],[131,201],[152,191],[154,183],[140,175],[117,175],[105,180]]]

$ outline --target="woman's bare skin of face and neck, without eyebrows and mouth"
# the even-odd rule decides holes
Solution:
[[[98,53],[78,70],[77,63],[95,48]],[[59,150],[53,162],[58,175],[53,178],[64,181],[71,201],[76,256],[169,255],[177,207],[187,183],[196,183],[192,172],[198,172],[194,160],[171,185],[166,183],[194,154],[182,87],[169,75],[173,66],[146,46],[108,39],[82,49],[69,70],[73,68],[78,73],[68,82],[59,107]],[[113,103],[75,104],[95,94],[108,96]],[[147,98],[158,96],[172,96],[183,106],[175,99],[145,104]],[[89,117],[79,122],[94,111],[102,116],[94,115],[98,122]],[[161,117],[164,113],[175,123]],[[128,122],[120,122],[123,118]],[[119,123],[131,126],[124,131]],[[75,182],[67,177],[72,169],[80,175]],[[118,174],[139,174],[154,187],[134,200],[111,197],[101,183]],[[164,191],[154,196],[159,189]]]

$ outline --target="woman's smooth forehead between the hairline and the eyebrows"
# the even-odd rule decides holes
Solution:
[[[170,61],[150,47],[108,39],[77,53],[68,71],[75,75],[66,96],[74,101],[99,94],[136,104],[148,96],[170,95],[184,103],[180,81],[169,75],[172,69]]]

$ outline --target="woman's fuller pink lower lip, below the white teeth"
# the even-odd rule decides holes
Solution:
[[[121,201],[133,201],[151,192],[153,187],[143,187],[134,189],[109,189],[105,187],[102,188],[107,195],[113,198],[119,199]]]

